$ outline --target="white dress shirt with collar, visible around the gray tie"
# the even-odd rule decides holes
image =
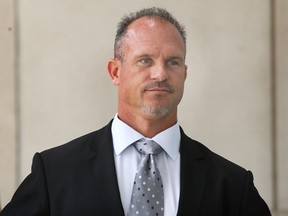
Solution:
[[[125,215],[128,214],[133,182],[140,153],[131,145],[145,138],[142,134],[122,122],[116,115],[112,123],[115,167],[121,201]],[[149,139],[149,138],[148,138]],[[164,188],[164,216],[175,216],[180,194],[180,129],[176,123],[152,138],[164,151],[156,156]]]

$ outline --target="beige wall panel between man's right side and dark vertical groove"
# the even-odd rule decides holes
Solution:
[[[183,16],[189,79],[180,121],[192,137],[251,169],[272,206],[269,1],[190,7]]]

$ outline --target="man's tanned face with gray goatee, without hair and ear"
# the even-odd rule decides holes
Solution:
[[[134,21],[118,64],[118,110],[176,117],[187,67],[183,39],[172,24],[147,17]]]

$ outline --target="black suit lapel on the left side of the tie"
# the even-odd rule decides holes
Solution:
[[[105,215],[124,215],[114,163],[111,122],[91,142],[89,169],[94,176],[98,206]]]

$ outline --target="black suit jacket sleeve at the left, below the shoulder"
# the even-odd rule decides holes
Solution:
[[[48,216],[49,197],[45,171],[39,153],[33,158],[32,172],[19,186],[0,216]]]

